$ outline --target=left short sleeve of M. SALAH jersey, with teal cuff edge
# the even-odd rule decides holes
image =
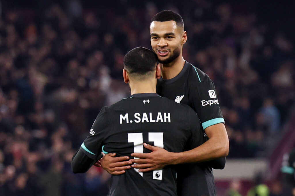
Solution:
[[[102,144],[108,131],[106,107],[103,107],[97,115],[87,138],[80,149],[91,159],[97,159],[102,152]]]

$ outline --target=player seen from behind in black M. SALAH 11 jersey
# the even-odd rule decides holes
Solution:
[[[89,136],[73,156],[74,173],[86,172],[101,152],[116,152],[126,158],[143,153],[147,143],[170,152],[201,145],[204,135],[194,110],[156,94],[160,72],[155,53],[147,48],[134,48],[125,55],[123,77],[132,95],[101,109]],[[176,170],[167,166],[112,175],[108,195],[177,195]]]

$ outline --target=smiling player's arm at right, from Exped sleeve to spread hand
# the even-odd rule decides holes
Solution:
[[[219,108],[214,84],[208,76],[205,76],[199,83],[198,88],[194,89],[191,87],[190,89],[192,89],[192,91],[189,99],[193,100],[191,107],[199,115],[202,127],[209,139],[204,144],[182,153],[168,153],[166,151],[165,154],[163,150],[160,150],[157,147],[150,149],[150,145],[147,145],[147,148],[153,150],[153,152],[146,154],[131,154],[131,156],[140,158],[131,160],[132,163],[139,164],[132,165],[132,167],[138,169],[150,167],[140,171],[145,172],[161,168],[163,165],[204,162],[208,160],[212,160],[210,166],[213,168],[222,169],[224,167],[224,157],[228,155],[229,151],[229,140],[223,124],[224,119]],[[159,158],[159,156],[165,157],[165,163]],[[216,158],[221,159],[214,160]]]

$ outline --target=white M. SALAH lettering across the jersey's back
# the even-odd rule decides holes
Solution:
[[[170,113],[160,113],[158,112],[158,114],[153,114],[153,113],[142,113],[142,115],[140,115],[140,113],[135,113],[134,114],[134,120],[129,120],[129,116],[128,113],[126,113],[125,115],[120,114],[120,124],[122,124],[123,122],[125,123],[154,123],[154,122],[162,122],[162,123],[170,123],[171,119],[170,119]]]

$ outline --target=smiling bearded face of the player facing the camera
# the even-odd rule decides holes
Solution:
[[[150,43],[163,64],[182,56],[182,45],[186,42],[186,31],[175,21],[153,21],[150,24]]]

